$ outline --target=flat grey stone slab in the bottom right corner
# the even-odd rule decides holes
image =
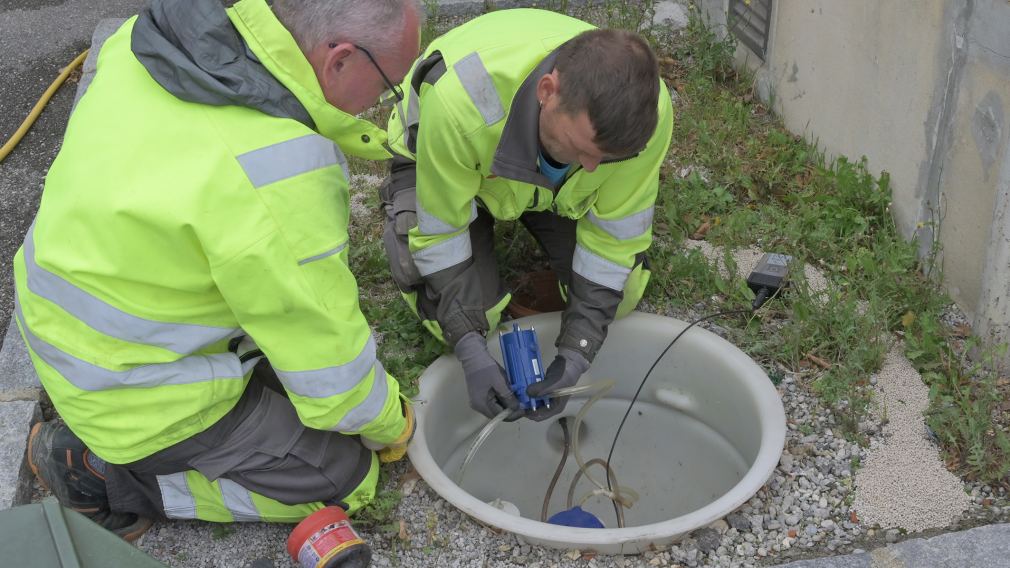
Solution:
[[[1010,525],[912,539],[869,553],[801,560],[781,568],[1010,568]]]

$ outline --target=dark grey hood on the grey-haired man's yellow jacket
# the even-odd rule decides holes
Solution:
[[[133,24],[131,49],[177,98],[254,108],[315,129],[302,103],[249,51],[220,0],[154,0]]]

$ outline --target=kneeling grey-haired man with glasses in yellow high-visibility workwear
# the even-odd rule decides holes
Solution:
[[[155,0],[104,44],[14,259],[66,421],[30,465],[124,538],[298,522],[375,493],[412,415],[347,267],[355,114],[417,57],[412,0]],[[390,79],[392,78],[392,79]]]

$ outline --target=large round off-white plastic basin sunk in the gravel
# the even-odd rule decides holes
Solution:
[[[543,363],[549,365],[560,315],[533,315],[505,325],[534,326]],[[580,381],[616,381],[583,422],[580,448],[585,460],[606,458],[642,377],[686,326],[678,319],[640,312],[610,326],[606,344]],[[500,361],[497,333],[489,338],[489,348]],[[573,397],[564,415],[575,416],[585,402]],[[487,419],[470,408],[454,357],[441,357],[422,374],[415,409],[417,434],[410,459],[448,502],[529,543],[603,554],[634,554],[667,545],[725,516],[771,476],[786,435],[782,401],[761,367],[733,345],[696,326],[663,356],[621,432],[611,467],[621,486],[640,495],[624,509],[625,527],[617,528],[609,499],[590,496],[583,507],[607,528],[575,529],[539,520],[564,447],[557,418],[501,424],[458,483],[460,465]],[[570,455],[548,515],[567,508],[577,472]],[[591,468],[590,473],[605,480],[602,468]],[[593,488],[585,477],[579,480],[572,490],[574,503]],[[521,516],[489,504],[496,499],[515,504]]]

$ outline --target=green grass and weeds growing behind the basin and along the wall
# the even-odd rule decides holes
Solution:
[[[648,27],[654,2],[574,7],[552,0],[544,7],[643,32],[656,46],[664,79],[676,92],[674,137],[661,170],[649,252],[648,303],[692,314],[749,303],[752,295],[734,276],[730,257],[724,259],[728,275],[722,274],[700,252],[684,247],[696,233],[705,232],[705,240],[727,251],[756,247],[792,255],[819,269],[827,290],[814,290],[803,275],[794,274],[785,297],[753,317],[720,321],[729,339],[771,374],[781,378],[779,369],[788,369],[806,378],[832,409],[836,431],[865,442],[860,423],[873,397],[870,375],[879,370],[889,341],[903,337],[909,358],[930,387],[927,420],[948,463],[972,479],[1005,479],[1010,440],[1001,424],[1010,411],[1003,403],[1010,385],[988,370],[994,352],[971,341],[950,341],[953,332],[942,322],[950,300],[937,284],[935,250],[920,259],[918,244],[898,233],[888,175],[873,175],[865,160],[828,159],[815,144],[786,130],[755,98],[752,78],[734,69],[732,37],[718,37],[696,9],[686,29],[670,34]],[[446,21],[429,18],[424,44],[448,27]],[[376,120],[384,123],[382,115]],[[382,170],[352,162],[356,173],[358,168]],[[377,198],[367,202],[378,207]],[[443,348],[420,327],[389,280],[381,221],[377,212],[352,235],[351,265],[363,310],[383,336],[380,357],[412,392],[417,376]],[[520,225],[499,223],[497,231],[500,258],[542,264]],[[514,265],[502,264],[506,281],[514,277]],[[972,350],[979,351],[979,363],[965,356]]]

